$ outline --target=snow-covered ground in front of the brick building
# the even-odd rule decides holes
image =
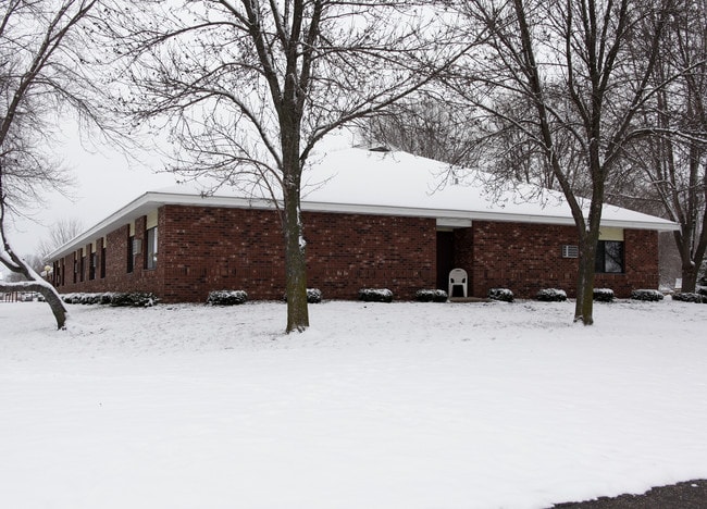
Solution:
[[[543,508],[707,477],[707,306],[0,302],[0,507]]]

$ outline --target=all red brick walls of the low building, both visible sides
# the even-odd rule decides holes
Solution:
[[[135,222],[142,243],[127,273],[128,225],[107,236],[106,277],[73,283],[74,253],[55,263],[61,293],[152,291],[165,302],[202,302],[211,290],[245,289],[251,299],[280,299],[285,288],[281,223],[275,211],[165,206],[158,214],[158,263],[145,269],[146,218]],[[362,287],[387,287],[399,299],[436,286],[434,219],[386,215],[303,214],[308,286],[325,298],[354,299]],[[634,288],[657,288],[657,233],[624,232],[625,274],[597,274],[595,286],[628,297]],[[470,295],[493,287],[519,298],[557,287],[574,296],[576,259],[563,259],[561,246],[576,244],[574,227],[474,221],[455,231],[456,266],[466,269]],[[100,243],[97,248],[100,251]],[[76,251],[79,257],[79,251]],[[78,266],[80,268],[80,259]]]

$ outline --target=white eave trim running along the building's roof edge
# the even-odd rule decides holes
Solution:
[[[277,207],[272,200],[263,198],[239,198],[225,196],[199,196],[179,193],[145,193],[128,204],[106,218],[85,233],[75,237],[49,254],[50,260],[62,258],[79,247],[97,238],[108,235],[120,226],[135,221],[141,215],[162,207],[174,206],[199,206],[199,207],[231,207],[243,209],[275,210]],[[376,204],[357,203],[331,203],[321,201],[302,201],[302,211],[306,212],[331,212],[349,214],[371,215],[398,215],[412,218],[430,218],[437,220],[437,225],[443,227],[469,227],[472,221],[495,221],[495,222],[518,222],[535,224],[574,225],[569,216],[559,215],[534,215],[518,214],[508,212],[467,211],[467,210],[444,210],[444,209],[420,209],[413,207],[387,207]],[[616,221],[604,220],[601,224],[618,228],[629,229],[655,229],[658,232],[672,232],[680,229],[677,223],[669,221]]]

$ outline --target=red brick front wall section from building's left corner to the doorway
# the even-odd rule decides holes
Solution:
[[[245,289],[251,299],[283,297],[276,212],[166,206],[163,215],[165,300],[203,301],[216,289]],[[434,220],[318,212],[305,213],[302,221],[308,286],[325,298],[356,298],[365,286],[412,298],[434,285]]]

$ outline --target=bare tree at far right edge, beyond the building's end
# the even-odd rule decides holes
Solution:
[[[680,224],[682,290],[694,291],[707,249],[707,2],[681,2],[665,34],[644,115],[656,133],[632,147],[634,195]],[[669,49],[669,50],[668,50]],[[660,84],[668,83],[667,86]],[[641,185],[643,183],[643,185]],[[648,184],[648,185],[646,185]],[[625,195],[625,194],[624,194]]]

